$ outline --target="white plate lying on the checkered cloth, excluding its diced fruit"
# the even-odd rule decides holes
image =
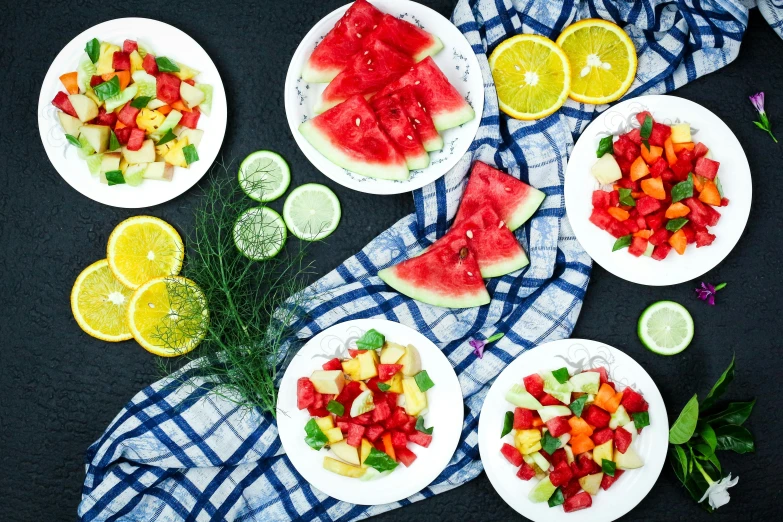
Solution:
[[[330,453],[326,449],[314,451],[305,443],[304,425],[310,415],[307,410],[296,407],[296,381],[309,377],[313,370],[320,370],[323,363],[334,357],[348,357],[348,347],[355,348],[356,340],[371,328],[384,334],[389,341],[418,348],[421,367],[435,383],[427,390],[429,411],[424,415],[425,425],[434,430],[429,448],[408,445],[418,457],[410,468],[400,464],[391,474],[364,482],[326,471],[323,460]],[[384,319],[346,321],[310,339],[286,369],[277,399],[280,440],[296,470],[314,488],[330,497],[368,506],[402,500],[435,480],[457,449],[463,417],[462,390],[443,352],[416,330]]]

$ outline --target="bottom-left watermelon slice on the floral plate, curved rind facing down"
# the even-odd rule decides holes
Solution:
[[[327,159],[363,176],[408,179],[405,157],[381,130],[363,96],[353,96],[337,107],[307,120],[299,132]]]

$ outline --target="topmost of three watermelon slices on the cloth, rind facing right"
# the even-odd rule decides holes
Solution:
[[[468,179],[454,225],[467,221],[479,208],[489,205],[506,226],[514,231],[538,210],[544,193],[514,176],[477,161]]]

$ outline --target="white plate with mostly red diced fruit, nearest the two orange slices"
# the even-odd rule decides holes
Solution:
[[[674,96],[627,100],[574,146],[566,211],[577,239],[623,279],[663,286],[720,263],[750,214],[750,167],[713,113]]]

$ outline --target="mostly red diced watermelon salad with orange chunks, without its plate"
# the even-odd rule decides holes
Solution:
[[[636,115],[640,127],[606,136],[598,144],[591,172],[601,185],[593,192],[590,221],[617,240],[612,251],[628,248],[636,257],[656,261],[672,250],[685,254],[715,241],[709,227],[718,224],[729,200],[718,179],[720,163],[696,142],[689,123],[664,125],[649,112]]]

